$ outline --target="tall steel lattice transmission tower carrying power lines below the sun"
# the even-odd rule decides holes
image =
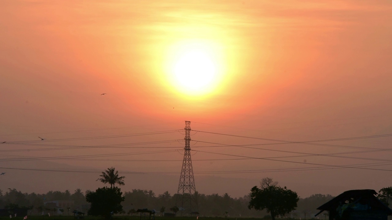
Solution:
[[[182,213],[198,212],[198,205],[196,199],[196,187],[193,177],[193,168],[191,160],[191,122],[185,121],[185,153],[182,162],[180,183],[178,184],[176,206]]]

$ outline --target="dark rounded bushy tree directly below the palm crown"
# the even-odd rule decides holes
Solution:
[[[87,194],[86,201],[91,203],[88,215],[103,216],[110,219],[112,214],[122,211],[121,202],[124,201],[120,188],[98,188],[95,192]]]

